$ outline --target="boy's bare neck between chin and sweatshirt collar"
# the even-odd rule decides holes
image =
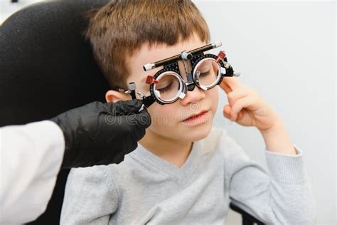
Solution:
[[[146,135],[139,143],[161,159],[181,167],[190,155],[193,142],[181,142],[168,137],[163,137],[151,130],[146,130]]]

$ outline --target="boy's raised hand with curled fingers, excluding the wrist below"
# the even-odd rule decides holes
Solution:
[[[234,77],[225,77],[220,87],[225,90],[228,103],[223,115],[242,126],[254,126],[267,131],[281,122],[277,113],[260,97],[256,90]]]

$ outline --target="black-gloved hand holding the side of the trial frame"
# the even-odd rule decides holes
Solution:
[[[53,117],[65,137],[63,168],[119,163],[137,148],[151,118],[141,100],[93,102]]]

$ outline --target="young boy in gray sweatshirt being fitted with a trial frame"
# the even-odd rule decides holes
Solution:
[[[162,67],[144,72],[144,64],[210,42],[203,16],[188,0],[111,1],[92,15],[87,37],[112,88],[108,102],[129,99],[117,88],[127,90],[129,82],[149,95],[146,77]],[[225,117],[260,130],[270,174],[225,130],[212,129],[218,89],[228,95]],[[70,172],[61,223],[224,224],[230,201],[267,224],[314,223],[301,150],[255,90],[226,77],[220,88],[194,88],[148,111],[151,126],[124,162]]]

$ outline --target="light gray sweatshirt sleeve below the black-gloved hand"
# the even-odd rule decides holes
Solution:
[[[109,224],[110,214],[117,210],[118,191],[107,167],[70,170],[60,224]]]

